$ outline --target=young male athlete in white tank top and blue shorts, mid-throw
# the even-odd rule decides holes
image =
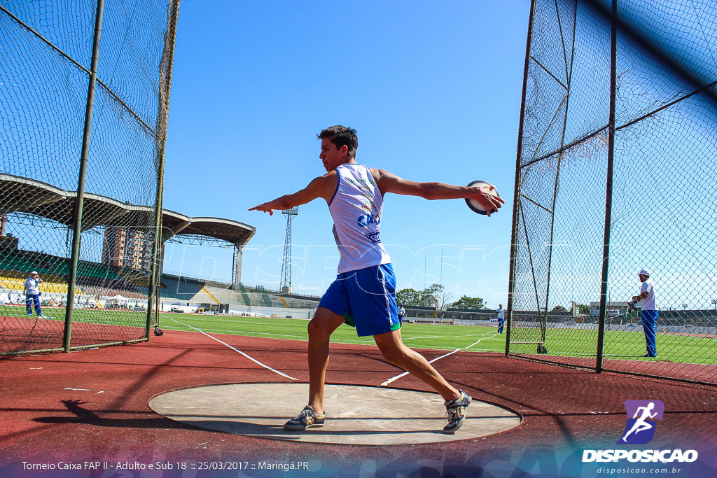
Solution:
[[[389,254],[381,244],[379,224],[386,193],[421,196],[425,199],[475,199],[488,216],[503,205],[484,186],[450,186],[443,183],[406,181],[382,169],[356,163],[359,138],[356,130],[331,126],[317,135],[321,140],[319,158],[326,174],[313,179],[308,186],[250,211],[290,209],[323,198],[333,218],[333,235],[341,259],[336,281],[323,295],[308,325],[308,405],[284,428],[305,430],[323,426],[323,391],[328,367],[329,338],[343,322],[356,327],[359,337],[373,335],[381,354],[390,363],[412,373],[435,389],[445,400],[448,424],[445,433],[452,434],[463,423],[470,396],[451,386],[419,353],[404,345],[401,322],[396,307],[396,278]]]

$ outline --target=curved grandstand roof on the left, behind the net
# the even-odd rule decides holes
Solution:
[[[14,212],[22,212],[41,216],[60,224],[70,226],[75,209],[75,191],[65,191],[42,181],[0,174],[0,216]],[[49,207],[52,205],[52,207]],[[116,199],[85,193],[82,210],[82,231],[95,226],[116,224],[141,224],[133,220],[133,216],[153,214],[151,206],[138,206],[123,203]],[[238,247],[244,246],[254,236],[256,228],[239,221],[217,217],[190,217],[184,214],[163,209],[162,211],[163,240],[179,234],[209,236],[220,239]]]

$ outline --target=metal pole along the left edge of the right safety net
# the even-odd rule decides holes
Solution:
[[[528,39],[526,41],[526,62],[523,67],[523,97],[521,98],[521,124],[518,125],[518,153],[516,155],[516,185],[513,190],[513,231],[511,232],[511,271],[508,282],[508,330],[505,332],[505,356],[511,353],[511,328],[513,325],[513,295],[516,291],[516,254],[518,253],[518,209],[521,201],[521,150],[523,149],[523,121],[526,116],[526,90],[528,89],[528,64],[531,61],[531,42],[533,41],[533,17],[536,0],[531,0],[531,14],[528,19]]]

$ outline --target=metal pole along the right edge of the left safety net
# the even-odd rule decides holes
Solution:
[[[179,0],[171,0],[169,3],[169,14],[167,15],[167,32],[164,40],[164,52],[162,54],[162,63],[166,64],[166,77],[164,81],[160,82],[160,110],[157,116],[157,135],[158,135],[158,161],[157,161],[157,207],[156,214],[154,217],[154,244],[152,246],[152,266],[149,274],[149,285],[147,287],[147,323],[146,323],[146,340],[149,340],[149,331],[152,322],[152,309],[154,302],[157,307],[159,306],[159,300],[155,300],[157,297],[157,291],[159,288],[159,274],[161,271],[158,267],[160,244],[162,240],[162,209],[163,201],[162,196],[164,193],[164,147],[166,145],[167,137],[167,119],[169,115],[169,92],[172,84],[172,65],[174,64],[174,44],[176,42],[176,27],[177,19],[179,16]],[[164,86],[164,88],[162,87]],[[159,311],[156,312],[157,320],[159,318]],[[158,323],[158,322],[156,322]]]

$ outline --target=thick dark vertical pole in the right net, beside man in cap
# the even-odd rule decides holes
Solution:
[[[610,118],[607,137],[607,184],[605,191],[605,234],[602,244],[602,285],[597,326],[597,363],[595,371],[602,372],[604,353],[605,312],[607,312],[607,279],[610,256],[610,221],[612,217],[612,164],[615,146],[615,97],[617,89],[617,0],[612,0],[610,21]]]

